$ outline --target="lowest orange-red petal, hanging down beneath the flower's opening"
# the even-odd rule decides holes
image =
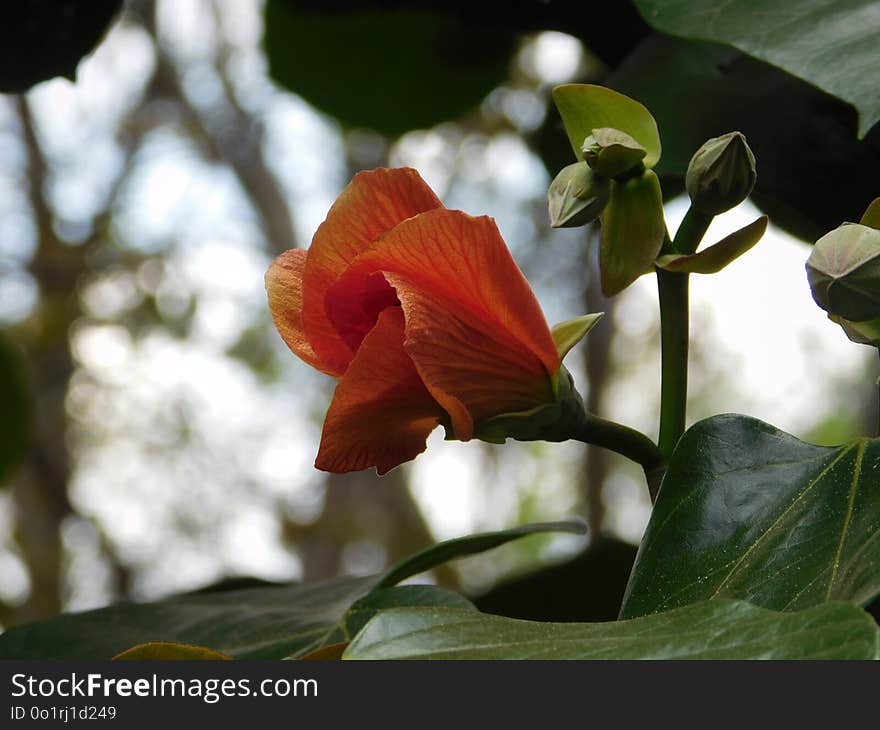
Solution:
[[[403,328],[400,307],[388,307],[364,338],[327,411],[318,469],[384,474],[425,450],[443,411],[403,349]]]

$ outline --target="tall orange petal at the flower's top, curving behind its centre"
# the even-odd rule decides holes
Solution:
[[[327,289],[383,233],[441,207],[415,170],[380,168],[355,175],[318,227],[306,259],[302,321],[315,353],[337,376],[345,372],[357,346],[328,320]]]

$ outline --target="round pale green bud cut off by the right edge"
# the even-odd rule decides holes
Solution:
[[[844,223],[816,241],[807,260],[813,299],[851,322],[880,317],[880,231]]]

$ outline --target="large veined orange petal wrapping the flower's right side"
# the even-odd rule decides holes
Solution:
[[[354,307],[377,271],[397,290],[406,351],[456,438],[470,438],[474,421],[552,399],[550,328],[490,218],[439,209],[404,221],[357,259],[328,303]]]

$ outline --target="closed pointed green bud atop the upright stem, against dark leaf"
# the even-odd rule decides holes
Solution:
[[[745,136],[729,132],[708,140],[691,157],[685,185],[694,208],[718,215],[749,197],[756,177]]]

